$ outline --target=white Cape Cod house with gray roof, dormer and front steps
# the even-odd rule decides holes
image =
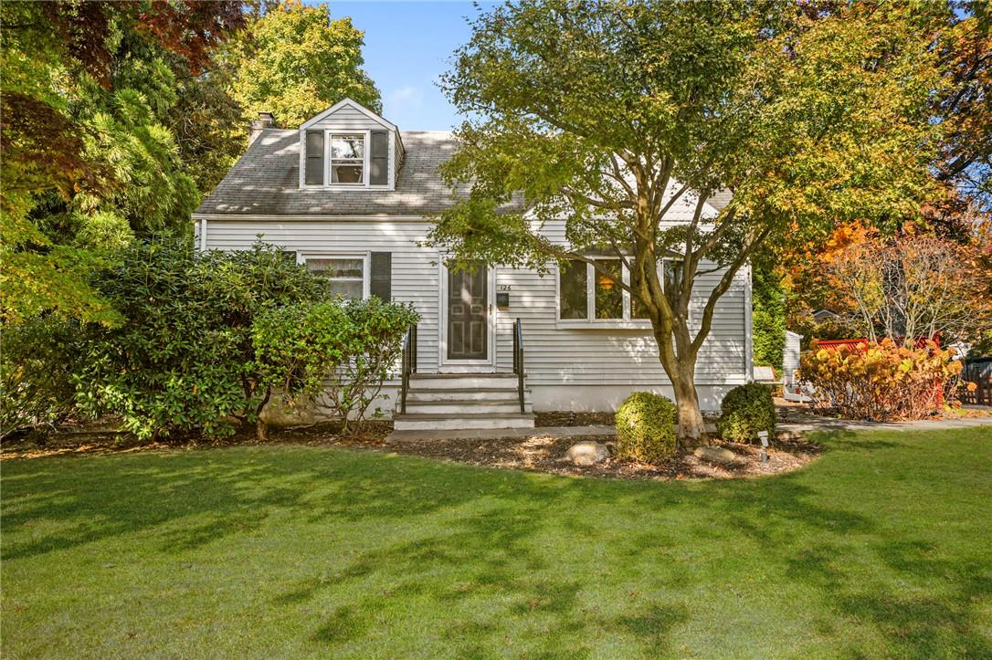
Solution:
[[[432,214],[455,201],[437,172],[457,147],[450,134],[400,131],[350,99],[297,130],[266,124],[271,115],[255,123],[248,151],[193,213],[198,246],[245,250],[261,235],[295,252],[335,292],[413,303],[421,315],[417,372],[397,428],[530,426],[532,408],[608,411],[637,389],[672,396],[650,323],[591,267],[452,273],[443,255],[419,245]],[[712,200],[707,211],[715,215],[726,202]],[[689,212],[686,206],[686,218]],[[545,231],[564,243],[563,222]],[[628,277],[619,260],[611,268]],[[703,285],[720,275],[706,275]],[[749,381],[750,298],[744,269],[721,298],[699,354],[703,409],[717,409],[728,389]],[[693,309],[703,302],[700,294]],[[513,375],[517,319],[524,406]]]

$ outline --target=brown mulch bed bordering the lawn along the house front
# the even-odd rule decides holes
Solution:
[[[495,440],[400,440],[388,441],[388,424],[367,425],[360,434],[340,435],[332,424],[273,430],[265,444],[333,446],[349,449],[384,451],[396,454],[466,463],[495,468],[512,468],[546,472],[558,475],[589,477],[614,477],[620,479],[733,479],[772,475],[797,470],[819,453],[819,447],[805,441],[776,443],[769,451],[769,461],[762,463],[760,448],[736,443],[721,443],[736,455],[731,465],[707,463],[691,453],[681,452],[677,460],[668,465],[654,466],[644,463],[608,459],[595,466],[575,466],[561,457],[575,442],[596,440],[608,447],[612,437],[563,436],[551,437],[536,428],[528,438]],[[223,447],[257,444],[250,430],[245,429],[229,438],[218,441],[177,439],[169,443],[141,442],[127,434],[106,429],[93,429],[60,433],[43,444],[30,440],[4,442],[0,458],[37,458],[41,456],[121,453],[149,450],[193,449],[197,447]]]

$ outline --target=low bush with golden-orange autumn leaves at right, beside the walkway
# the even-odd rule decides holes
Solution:
[[[951,401],[961,363],[954,349],[919,348],[890,339],[821,347],[803,354],[803,380],[816,408],[854,419],[920,419]]]

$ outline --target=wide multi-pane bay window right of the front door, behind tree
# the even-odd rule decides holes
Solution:
[[[569,324],[648,326],[648,315],[621,284],[630,272],[618,258],[595,258],[596,267],[572,260],[558,269],[558,320]],[[678,263],[665,261],[663,274],[672,279]],[[663,279],[663,285],[664,281]]]

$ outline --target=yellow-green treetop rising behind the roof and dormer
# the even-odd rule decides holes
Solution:
[[[379,90],[362,69],[363,33],[349,18],[331,20],[325,3],[290,0],[250,32],[233,83],[248,118],[272,112],[281,126],[297,127],[346,96],[382,112]]]

